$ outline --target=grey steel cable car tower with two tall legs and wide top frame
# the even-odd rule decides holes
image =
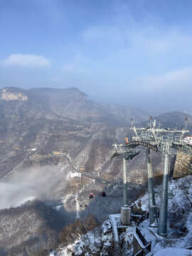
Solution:
[[[127,144],[127,147],[134,148],[136,146],[146,146],[146,163],[147,163],[147,173],[148,173],[148,190],[149,190],[149,215],[150,215],[150,225],[156,223],[156,205],[154,200],[154,185],[151,167],[151,157],[149,149],[154,149],[155,151],[161,151],[164,154],[164,176],[162,184],[162,194],[161,194],[161,206],[159,215],[159,227],[158,234],[166,236],[167,233],[167,206],[168,206],[168,181],[169,181],[169,171],[170,171],[170,154],[171,149],[179,149],[186,154],[192,154],[192,146],[183,142],[183,135],[189,132],[186,129],[187,118],[185,128],[181,130],[171,130],[160,127],[156,127],[156,121],[152,122],[152,117],[150,118],[148,127],[136,128],[132,120],[132,129],[135,136],[132,137],[132,142]],[[174,152],[176,154],[176,152]]]

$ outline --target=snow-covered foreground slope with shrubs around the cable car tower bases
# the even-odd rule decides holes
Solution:
[[[149,228],[149,220],[145,220],[139,225],[146,240],[151,241],[151,250],[155,256],[174,255],[192,256],[191,250],[186,247],[192,245],[192,176],[180,178],[177,181],[169,182],[169,202],[168,210],[176,213],[175,219],[168,219],[168,235],[163,238],[157,235],[156,228]],[[156,205],[161,203],[161,186],[156,187],[160,195],[156,195]],[[148,193],[132,203],[142,210],[149,210]],[[127,231],[119,235],[119,243],[124,255],[133,254],[133,233],[134,223],[130,224]],[[91,256],[100,254],[101,256],[112,255],[113,249],[112,227],[110,220],[105,220],[102,226],[82,235],[73,245],[59,248],[57,256]]]

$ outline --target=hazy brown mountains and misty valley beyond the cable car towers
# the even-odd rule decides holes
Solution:
[[[114,140],[124,144],[125,137],[132,137],[131,118],[142,127],[149,117],[131,107],[92,102],[77,88],[2,89],[0,221],[6,236],[1,237],[0,255],[31,255],[40,248],[48,252],[58,246],[62,228],[77,217],[92,214],[102,223],[118,213],[122,159],[111,159],[112,144]],[[161,119],[164,127],[181,129],[185,117],[171,112],[155,119]],[[191,133],[191,115],[188,129]],[[159,184],[163,156],[160,152],[151,156],[154,181]],[[144,150],[128,161],[127,176],[131,204],[147,187]],[[103,191],[106,197],[101,196]]]

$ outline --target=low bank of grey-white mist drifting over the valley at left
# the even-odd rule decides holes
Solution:
[[[8,182],[0,182],[0,209],[20,206],[33,198],[48,201],[53,196],[55,186],[65,179],[62,169],[55,166],[16,171]]]

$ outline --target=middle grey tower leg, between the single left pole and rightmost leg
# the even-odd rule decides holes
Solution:
[[[154,178],[151,164],[151,154],[150,149],[146,147],[146,166],[147,166],[147,175],[148,175],[148,193],[149,193],[149,225],[156,227],[157,218],[156,218],[156,203],[154,197]]]

